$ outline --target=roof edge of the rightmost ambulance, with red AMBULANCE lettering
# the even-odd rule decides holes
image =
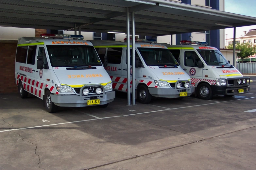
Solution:
[[[170,45],[167,43],[161,43],[168,49],[185,49],[185,50],[218,50],[215,47],[204,46],[204,45]]]

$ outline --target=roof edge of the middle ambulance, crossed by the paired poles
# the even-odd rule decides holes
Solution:
[[[89,40],[92,42],[95,48],[106,48],[106,47],[127,47],[126,42],[121,41],[104,41],[104,40]],[[130,42],[131,47],[131,42]],[[163,48],[167,49],[166,46],[159,43],[148,43],[148,42],[135,42],[135,47],[146,47],[146,48]]]

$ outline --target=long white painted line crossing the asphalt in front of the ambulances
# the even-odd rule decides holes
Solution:
[[[246,99],[252,99],[252,98],[256,98],[256,97],[249,97],[249,98],[245,98],[245,99],[236,99],[236,100],[246,100]],[[164,110],[155,110],[155,111],[149,111],[149,112],[143,112],[143,113],[135,113],[135,114],[129,114],[129,115],[111,116],[111,117],[105,117],[105,118],[97,118],[97,119],[89,119],[89,120],[78,120],[78,121],[71,121],[71,122],[65,122],[65,123],[56,123],[56,124],[48,124],[48,125],[42,125],[42,126],[33,126],[33,127],[26,127],[26,128],[8,129],[8,130],[0,131],[0,133],[1,133],[1,132],[8,132],[8,131],[22,130],[22,129],[32,129],[32,128],[38,128],[38,127],[45,127],[45,126],[54,126],[54,125],[60,125],[60,124],[77,123],[77,122],[83,122],[83,121],[91,121],[91,120],[99,120],[99,119],[108,119],[108,118],[117,118],[117,117],[126,117],[126,116],[133,116],[133,115],[139,115],[139,114],[160,112],[160,111],[166,111],[166,110],[174,110],[174,109],[187,108],[187,107],[196,107],[196,106],[212,105],[212,104],[216,104],[216,103],[232,102],[232,101],[236,101],[236,100],[229,100],[229,101],[223,101],[223,102],[208,103],[208,104],[195,105],[195,106],[185,106],[185,107],[169,108],[169,109],[164,109]],[[154,106],[154,105],[153,105],[153,106]],[[72,110],[74,110],[74,109],[72,109]],[[92,116],[93,116],[93,115],[92,115]]]

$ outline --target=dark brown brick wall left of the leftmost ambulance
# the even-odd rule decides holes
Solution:
[[[18,92],[15,84],[17,41],[0,43],[0,94]]]

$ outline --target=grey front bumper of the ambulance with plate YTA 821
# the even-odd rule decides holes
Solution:
[[[51,94],[52,102],[57,106],[63,107],[84,107],[84,106],[96,106],[96,105],[87,105],[88,100],[99,99],[100,104],[105,105],[114,101],[115,92],[105,92],[102,94],[91,94],[91,95],[56,95]]]

